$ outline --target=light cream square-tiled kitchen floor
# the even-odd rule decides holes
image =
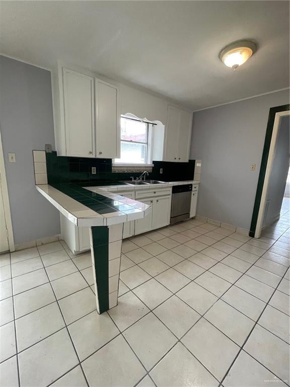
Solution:
[[[90,253],[0,256],[0,385],[289,385],[290,199],[251,239],[190,220],[123,242],[98,315]]]

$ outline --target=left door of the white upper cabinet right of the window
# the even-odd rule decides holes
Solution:
[[[178,161],[177,151],[179,126],[180,110],[175,107],[168,106],[164,161]]]

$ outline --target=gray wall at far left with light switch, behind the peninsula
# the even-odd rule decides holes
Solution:
[[[35,189],[32,150],[54,147],[50,72],[0,56],[0,130],[15,243],[60,233],[58,211]],[[8,153],[16,153],[16,163]]]

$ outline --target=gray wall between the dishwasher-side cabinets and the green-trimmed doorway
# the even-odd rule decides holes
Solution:
[[[269,109],[286,103],[288,90],[193,114],[190,158],[202,160],[198,215],[250,228]]]

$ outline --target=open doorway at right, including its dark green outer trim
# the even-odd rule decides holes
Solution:
[[[290,105],[269,112],[261,168],[249,236],[259,238],[262,229],[277,221],[282,207],[290,153]]]

